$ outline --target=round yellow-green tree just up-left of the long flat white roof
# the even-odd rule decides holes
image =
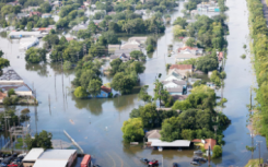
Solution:
[[[139,142],[143,139],[143,124],[140,118],[130,118],[124,121],[123,128],[123,139],[126,142]]]

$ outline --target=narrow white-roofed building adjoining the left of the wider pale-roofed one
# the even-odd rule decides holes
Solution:
[[[22,164],[24,167],[34,166],[35,162],[38,157],[44,153],[44,148],[32,148],[28,154],[22,159]]]

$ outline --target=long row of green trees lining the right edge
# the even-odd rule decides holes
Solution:
[[[268,52],[268,28],[266,17],[263,12],[260,0],[248,0],[250,36],[253,38],[253,51],[255,55],[255,70],[258,82],[256,94],[257,105],[254,111],[254,130],[255,133],[266,136],[268,143],[268,71],[267,71],[267,52]]]

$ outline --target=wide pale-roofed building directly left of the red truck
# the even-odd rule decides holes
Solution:
[[[77,156],[77,150],[46,150],[38,156],[33,167],[71,167]]]

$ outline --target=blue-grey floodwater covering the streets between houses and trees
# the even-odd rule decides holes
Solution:
[[[245,53],[243,45],[248,46],[248,12],[245,0],[228,0],[229,28],[228,36],[228,60],[225,64],[226,80],[224,97],[228,98],[223,112],[232,120],[230,127],[224,131],[225,145],[223,146],[222,158],[214,159],[212,166],[244,166],[252,157],[246,151],[250,145],[249,131],[246,128],[249,103],[249,87],[255,85],[250,58],[245,60],[240,56]],[[177,11],[172,13],[172,21],[182,15],[180,3]],[[167,167],[172,163],[179,163],[180,166],[190,166],[193,151],[182,152],[164,150],[163,152],[142,150],[141,146],[130,146],[123,143],[121,126],[129,118],[129,112],[143,105],[138,100],[137,94],[124,95],[113,99],[77,99],[70,93],[71,81],[74,77],[73,71],[61,72],[57,64],[26,64],[24,53],[19,51],[19,43],[8,39],[0,39],[0,48],[11,61],[11,67],[24,79],[37,93],[40,102],[38,107],[31,109],[31,129],[33,131],[51,131],[55,139],[58,132],[66,130],[77,141],[83,151],[93,155],[94,162],[104,167],[139,167],[144,166],[139,158],[156,158],[160,165]],[[145,63],[145,71],[140,74],[141,84],[149,85],[149,93],[153,94],[153,82],[159,73],[165,77],[165,63],[174,62],[173,57],[167,57],[167,45],[173,44],[174,49],[179,43],[173,39],[172,27],[167,27],[165,35],[159,37],[158,49],[152,58]],[[20,58],[18,58],[20,56]],[[110,82],[110,79],[103,76],[103,83]],[[50,97],[50,103],[48,98]],[[50,107],[49,107],[50,104]],[[19,106],[19,109],[25,106]],[[59,136],[63,139],[62,136]],[[65,138],[65,140],[67,140]],[[67,140],[68,141],[68,140]],[[261,142],[261,155],[267,154],[265,138],[254,139]],[[254,158],[258,157],[258,148]],[[207,164],[202,165],[207,166]]]

